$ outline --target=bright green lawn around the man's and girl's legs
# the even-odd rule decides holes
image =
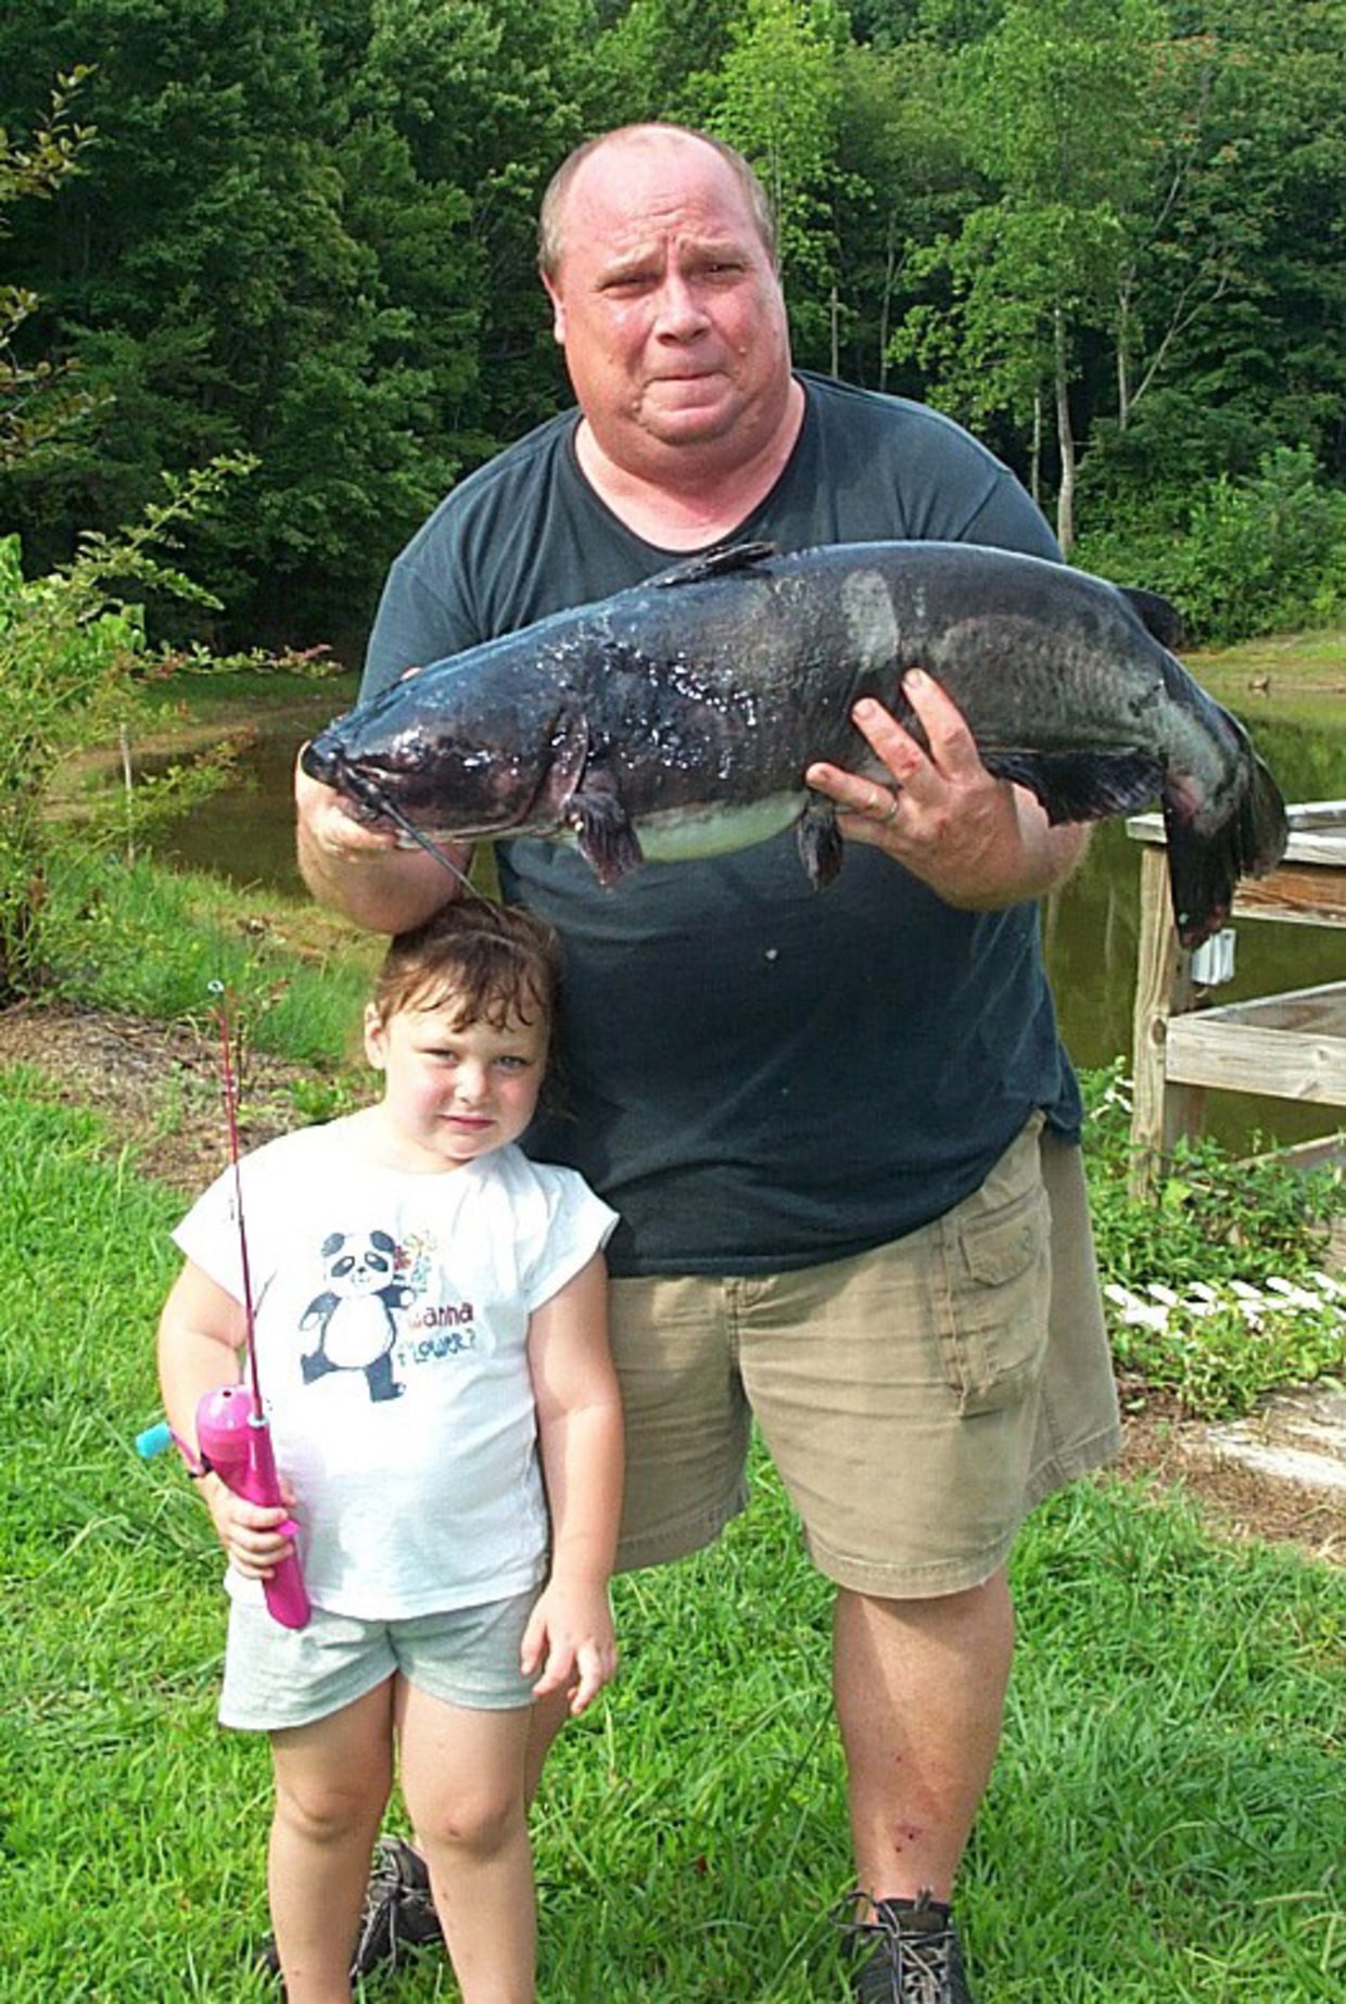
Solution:
[[[0,1074],[0,2000],[274,1998],[264,1745],[214,1725],[220,1561],[142,1465],[178,1200]],[[1102,1479],[1016,1559],[1022,1645],[961,1906],[983,2004],[1346,1994],[1346,1581]],[[535,1818],[553,2004],[839,2000],[827,1589],[765,1461],[695,1561],[621,1581],[623,1673]],[[421,1958],[395,1990],[457,1992]]]

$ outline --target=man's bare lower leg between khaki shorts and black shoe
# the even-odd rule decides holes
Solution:
[[[1012,1649],[1003,1567],[927,1601],[837,1593],[833,1689],[855,1882],[869,1900],[949,1900],[999,1743]]]

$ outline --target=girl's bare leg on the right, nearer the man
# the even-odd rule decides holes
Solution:
[[[463,2004],[533,2004],[537,1922],[523,1800],[529,1707],[467,1711],[397,1679],[403,1796]]]

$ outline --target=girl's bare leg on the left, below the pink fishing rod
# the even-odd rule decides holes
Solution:
[[[393,1786],[393,1679],[270,1735],[270,1920],[286,2004],[349,2004],[369,1858]]]

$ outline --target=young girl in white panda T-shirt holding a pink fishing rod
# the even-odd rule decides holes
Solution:
[[[288,1509],[206,1475],[230,1567],[220,1721],[270,1735],[270,1912],[288,2004],[345,2004],[393,1782],[467,2004],[533,1998],[525,1739],[615,1669],[607,1581],[621,1409],[607,1353],[615,1212],[515,1146],[557,998],[555,936],[463,900],[393,940],[365,1014],[383,1100],[240,1166],[254,1341]],[[232,1170],[174,1232],[168,1421],[238,1377]],[[539,1467],[541,1457],[541,1467]],[[298,1525],[312,1619],[262,1581]]]

